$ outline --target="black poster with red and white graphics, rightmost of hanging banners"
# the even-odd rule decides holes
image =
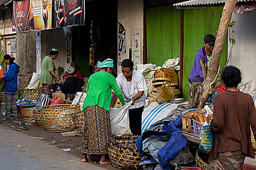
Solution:
[[[84,0],[54,0],[53,28],[84,25]]]

